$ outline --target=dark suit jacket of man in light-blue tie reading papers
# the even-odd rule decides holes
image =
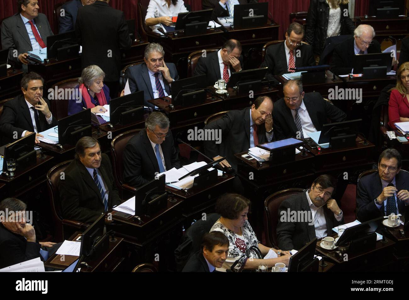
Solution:
[[[175,149],[173,136],[166,138],[161,144],[166,170],[179,169],[180,162]],[[146,134],[146,129],[131,138],[124,150],[124,181],[140,187],[155,178],[155,172],[160,173],[155,151]],[[156,173],[156,174],[157,174]]]

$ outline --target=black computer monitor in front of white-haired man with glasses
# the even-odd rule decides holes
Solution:
[[[353,59],[353,73],[362,74],[367,67],[386,67],[386,71],[389,72],[392,68],[392,58],[392,52],[357,54]]]

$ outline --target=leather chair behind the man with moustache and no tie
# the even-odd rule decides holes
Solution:
[[[277,223],[278,210],[281,202],[290,198],[292,195],[296,195],[304,192],[304,189],[291,188],[278,191],[268,196],[264,201],[264,234],[267,247],[278,246],[277,240]]]

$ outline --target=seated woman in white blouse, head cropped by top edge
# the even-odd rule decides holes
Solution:
[[[146,26],[150,26],[154,32],[160,33],[157,29],[160,23],[165,26],[172,25],[172,17],[177,17],[179,13],[187,12],[183,0],[151,0],[145,17]]]

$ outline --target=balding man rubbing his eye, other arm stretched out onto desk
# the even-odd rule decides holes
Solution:
[[[210,122],[205,130],[220,132],[220,140],[205,140],[206,152],[213,160],[225,156],[220,165],[237,171],[236,153],[248,151],[258,144],[271,142],[273,138],[273,101],[268,96],[259,96],[251,107],[232,110],[222,118]]]

